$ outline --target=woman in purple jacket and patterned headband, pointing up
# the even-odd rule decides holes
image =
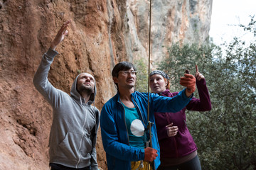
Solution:
[[[160,145],[159,170],[201,170],[197,147],[186,126],[185,111],[210,111],[211,103],[206,80],[196,65],[196,86],[200,98],[192,98],[188,105],[177,113],[155,113],[156,129]],[[178,92],[169,91],[169,77],[156,70],[150,73],[150,89],[161,96],[174,97]]]

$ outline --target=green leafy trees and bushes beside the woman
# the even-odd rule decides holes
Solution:
[[[241,27],[256,37],[253,17]],[[202,169],[256,169],[256,44],[234,38],[224,46],[172,45],[159,69],[171,77],[171,91],[183,89],[179,77],[196,72],[195,64],[206,77],[212,110],[186,113]]]

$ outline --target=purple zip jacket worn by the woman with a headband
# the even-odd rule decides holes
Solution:
[[[176,113],[155,113],[156,130],[159,139],[161,158],[183,157],[198,149],[186,126],[185,111],[210,111],[211,103],[206,80],[196,81],[199,98],[192,98],[188,105]],[[162,96],[174,97],[178,92],[171,93],[168,89],[161,93]],[[178,126],[178,133],[174,137],[168,137],[166,125],[174,123]]]

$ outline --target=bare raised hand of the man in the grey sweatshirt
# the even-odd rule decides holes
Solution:
[[[68,20],[66,21],[65,23],[63,23],[63,26],[60,28],[60,30],[58,31],[57,35],[55,36],[53,42],[51,42],[50,44],[50,48],[52,50],[55,50],[55,48],[57,47],[57,45],[62,42],[64,40],[64,37],[65,35],[68,35],[68,24],[70,23],[71,21]]]

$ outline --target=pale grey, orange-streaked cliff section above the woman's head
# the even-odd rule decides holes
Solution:
[[[208,40],[212,0],[154,0],[151,2],[151,64],[167,55],[174,42],[203,43]],[[149,1],[127,0],[131,54],[138,60],[149,52]]]

